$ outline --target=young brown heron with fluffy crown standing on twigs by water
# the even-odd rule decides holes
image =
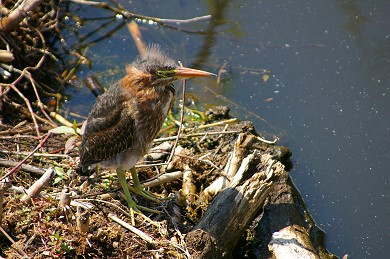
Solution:
[[[79,153],[83,171],[94,165],[116,169],[134,225],[134,213],[143,215],[139,209],[156,211],[134,202],[125,171],[131,170],[133,192],[159,201],[142,188],[134,166],[151,147],[168,114],[175,96],[173,81],[214,74],[178,66],[157,45],[149,46],[144,56],[128,65],[126,71],[124,78],[97,98]]]

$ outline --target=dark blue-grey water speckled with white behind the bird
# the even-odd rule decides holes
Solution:
[[[215,20],[182,25],[206,34],[139,24],[146,42],[160,43],[185,65],[217,73],[227,62],[221,84],[195,80],[189,82],[191,91],[209,103],[229,105],[232,115],[281,137],[293,152],[291,176],[326,231],[330,252],[390,257],[390,1],[122,4],[163,18],[212,14]],[[84,18],[105,14],[80,13]],[[79,33],[92,28],[96,22],[84,24]],[[123,76],[136,53],[124,26],[89,48],[94,65],[78,75],[93,73],[108,86]],[[77,95],[66,106],[86,115],[94,102],[89,90],[69,93]]]

